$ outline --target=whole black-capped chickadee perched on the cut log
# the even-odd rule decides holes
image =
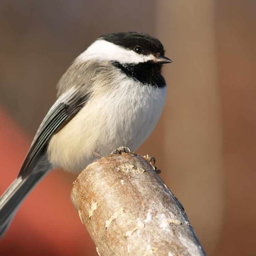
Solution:
[[[17,179],[0,198],[0,237],[20,203],[51,169],[81,172],[115,148],[135,151],[165,104],[161,42],[137,32],[102,35],[61,77]]]

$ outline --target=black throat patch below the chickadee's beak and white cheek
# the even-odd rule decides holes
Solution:
[[[143,85],[159,88],[166,86],[165,79],[161,75],[161,65],[156,65],[150,61],[138,64],[122,64],[118,61],[112,61],[112,64],[128,77],[141,82]]]

